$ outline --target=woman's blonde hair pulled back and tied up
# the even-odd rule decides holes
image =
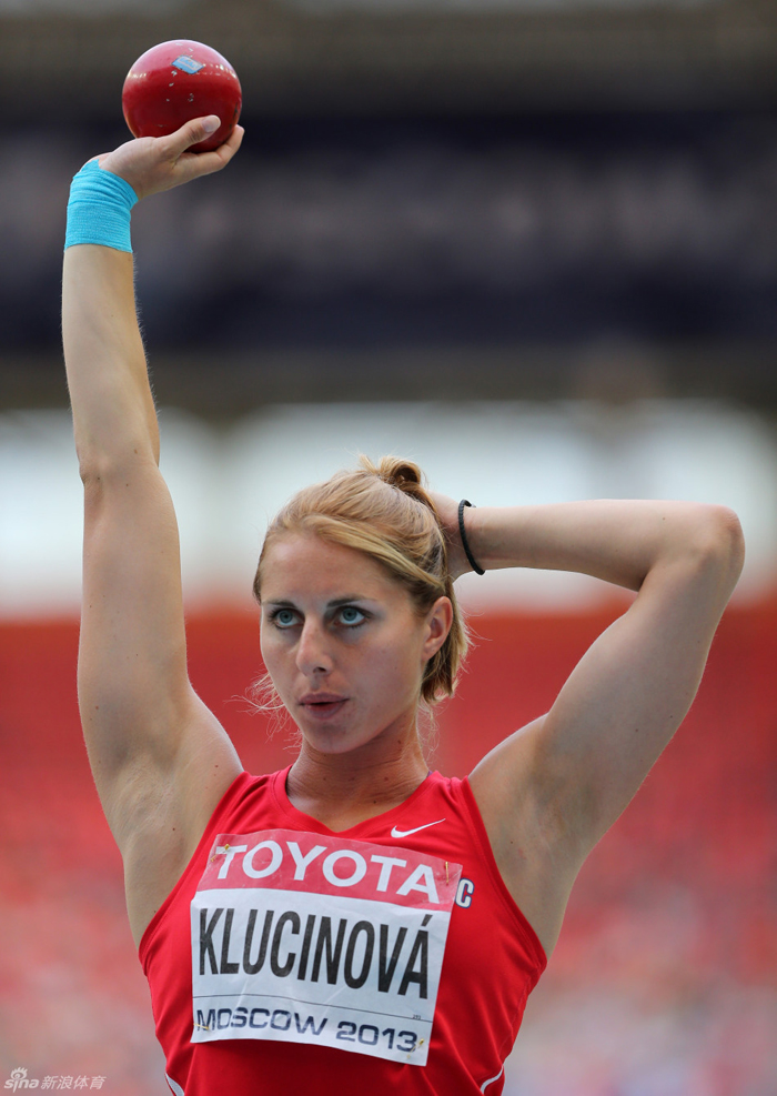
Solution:
[[[396,456],[383,456],[373,464],[360,456],[357,469],[345,469],[324,483],[297,491],[264,537],[253,584],[258,602],[268,549],[280,536],[296,532],[364,552],[407,590],[422,616],[438,597],[450,597],[453,623],[426,664],[421,700],[431,705],[453,695],[467,633],[453,591],[445,535],[417,464]]]

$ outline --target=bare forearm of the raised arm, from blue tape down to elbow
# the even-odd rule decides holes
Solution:
[[[65,251],[62,336],[82,472],[144,456],[158,461],[131,253],[93,244]]]

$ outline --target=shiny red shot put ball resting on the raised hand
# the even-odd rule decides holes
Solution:
[[[221,125],[190,152],[223,144],[240,118],[243,98],[230,62],[202,42],[179,38],[153,46],[124,80],[121,105],[133,137],[167,137],[191,118],[218,114]]]

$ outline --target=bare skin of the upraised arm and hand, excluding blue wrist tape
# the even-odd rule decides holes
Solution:
[[[206,122],[130,141],[100,157],[100,170],[139,198],[216,171],[242,131],[215,152],[188,153]],[[79,703],[139,939],[241,766],[186,673],[178,526],[158,466],[131,253],[68,247],[62,331],[84,485]]]

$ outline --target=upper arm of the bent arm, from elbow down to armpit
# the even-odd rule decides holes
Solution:
[[[511,893],[546,948],[583,861],[638,790],[696,694],[741,567],[738,523],[659,561],[551,711],[471,776]]]

